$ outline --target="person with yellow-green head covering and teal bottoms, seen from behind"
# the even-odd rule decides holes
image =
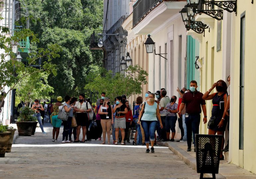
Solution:
[[[53,125],[53,142],[58,142],[62,120],[58,118],[59,107],[62,105],[62,97],[57,97],[57,102],[51,108],[51,121]],[[55,137],[56,135],[56,137]]]

